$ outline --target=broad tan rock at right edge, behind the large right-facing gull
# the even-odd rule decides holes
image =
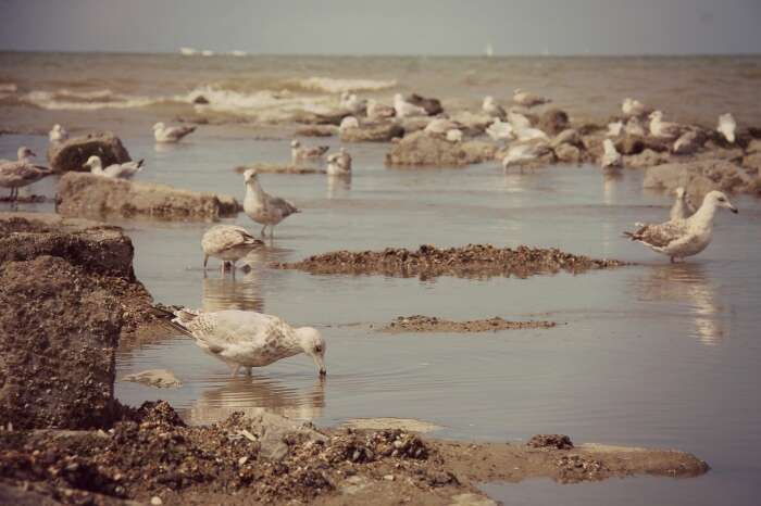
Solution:
[[[696,203],[702,202],[706,193],[711,190],[748,193],[758,191],[757,179],[748,176],[741,167],[724,160],[699,160],[650,167],[643,186],[663,190],[683,187]]]

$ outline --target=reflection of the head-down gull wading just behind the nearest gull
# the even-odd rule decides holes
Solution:
[[[264,311],[260,273],[265,264],[265,253],[252,252],[242,262],[248,266],[246,274],[222,278],[203,278],[203,309]]]

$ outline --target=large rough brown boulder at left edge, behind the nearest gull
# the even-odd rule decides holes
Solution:
[[[103,427],[117,416],[114,352],[147,318],[120,229],[0,215],[0,426]]]

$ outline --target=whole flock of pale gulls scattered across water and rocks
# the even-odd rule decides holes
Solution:
[[[521,107],[533,107],[551,102],[550,99],[532,94],[516,89],[513,102]],[[345,92],[340,96],[340,105],[357,115],[363,112],[370,118],[428,116],[428,112],[420,104],[407,101],[400,93],[394,97],[391,106],[374,100],[364,100],[354,93]],[[547,134],[532,126],[531,121],[521,110],[506,110],[492,97],[485,97],[482,110],[492,118],[486,128],[486,135],[492,140],[508,144],[502,166],[508,167],[535,160],[549,150]],[[632,135],[651,135],[661,139],[674,141],[678,150],[685,132],[695,128],[663,119],[661,111],[654,111],[634,99],[625,99],[622,103],[624,119],[608,125],[608,136],[615,137],[622,132]],[[346,116],[340,127],[359,127],[359,119]],[[716,130],[728,142],[735,141],[737,124],[731,114],[719,117]],[[163,123],[153,125],[153,136],[158,143],[179,142],[190,135],[195,127],[166,126]],[[425,131],[446,138],[450,142],[462,140],[460,125],[447,117],[431,119]],[[50,130],[51,143],[65,142],[68,138],[61,125],[54,125]],[[519,142],[512,142],[519,141]],[[600,165],[604,168],[620,167],[622,156],[616,151],[612,139],[607,138],[602,143],[603,153]],[[350,175],[352,170],[351,155],[341,148],[338,152],[327,154],[328,147],[302,146],[298,140],[290,142],[291,162],[321,160],[325,157],[327,174],[330,176]],[[327,154],[327,156],[326,156]],[[17,198],[18,189],[49,176],[51,170],[34,163],[35,153],[22,147],[17,151],[16,161],[0,161],[0,187],[11,189],[11,199]],[[99,156],[90,156],[85,166],[93,175],[108,178],[129,179],[144,168],[144,161],[111,164],[103,167]],[[274,237],[275,227],[288,216],[299,213],[298,207],[280,198],[271,195],[262,188],[255,169],[244,173],[246,197],[244,212],[254,223],[262,225],[261,238]],[[720,207],[737,213],[727,197],[720,191],[709,192],[699,208],[689,202],[683,188],[676,190],[676,199],[671,208],[669,219],[660,224],[639,224],[635,231],[624,232],[624,236],[637,241],[657,253],[664,254],[671,262],[696,255],[711,242],[714,215]],[[246,228],[237,225],[215,225],[203,233],[201,249],[203,251],[203,271],[205,275],[209,258],[221,261],[221,271],[224,276],[226,267],[235,276],[236,263],[251,252],[264,248],[262,240],[254,237]],[[230,366],[233,376],[239,369],[246,368],[251,374],[252,367],[262,367],[282,358],[304,353],[312,357],[319,374],[326,374],[325,340],[320,332],[311,327],[294,328],[280,318],[249,311],[214,311],[183,308],[173,313],[172,326],[184,334],[190,336],[196,343],[213,356]]]

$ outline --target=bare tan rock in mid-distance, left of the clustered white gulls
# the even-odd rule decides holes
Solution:
[[[386,165],[462,167],[494,159],[486,142],[452,143],[416,131],[401,139],[386,154]]]

